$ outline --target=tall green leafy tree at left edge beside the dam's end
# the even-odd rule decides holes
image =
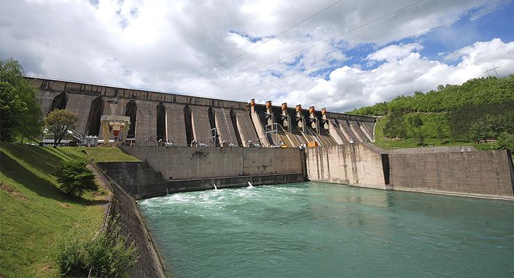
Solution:
[[[24,104],[24,109],[17,110],[3,107],[1,111],[2,140],[12,141],[19,138],[35,139],[41,135],[42,115],[38,100],[35,98],[36,90],[24,78],[22,65],[17,60],[0,59],[1,101],[3,104],[19,99]]]

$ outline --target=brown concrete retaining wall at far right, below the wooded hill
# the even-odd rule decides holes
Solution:
[[[506,150],[391,153],[395,190],[513,199],[514,173]]]

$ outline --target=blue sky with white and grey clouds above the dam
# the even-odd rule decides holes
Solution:
[[[2,0],[0,7],[0,58],[54,79],[345,112],[514,74],[512,1]]]

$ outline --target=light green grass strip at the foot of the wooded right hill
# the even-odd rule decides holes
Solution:
[[[375,142],[374,145],[381,147],[382,149],[398,149],[398,148],[413,148],[413,147],[421,147],[419,144],[419,139],[415,138],[407,138],[407,139],[399,139],[399,138],[386,138],[383,134],[383,128],[386,126],[388,122],[388,117],[381,117],[379,122],[376,123],[375,126]],[[429,146],[467,146],[472,145],[476,147],[476,149],[489,149],[488,144],[476,144],[476,142],[470,141],[455,141],[451,142],[450,139],[445,138],[424,138],[423,145]]]

